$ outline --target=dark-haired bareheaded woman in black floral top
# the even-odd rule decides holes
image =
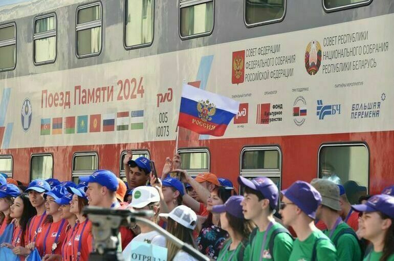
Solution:
[[[220,214],[213,213],[212,208],[216,205],[223,205],[230,197],[231,190],[224,187],[212,190],[207,200],[209,214],[197,237],[196,243],[199,251],[214,260],[217,259],[225,240],[228,238],[228,233],[220,226]]]

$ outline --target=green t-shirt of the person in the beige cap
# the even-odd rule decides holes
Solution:
[[[334,242],[334,239],[338,235],[341,230],[350,228],[345,222],[340,223],[335,229],[333,235],[330,237],[330,240]],[[330,236],[331,230],[324,230],[323,233],[326,236]],[[361,260],[361,250],[360,245],[356,239],[356,237],[352,234],[343,234],[338,238],[337,245],[335,246],[337,249],[338,260],[349,260],[349,261],[359,261]]]

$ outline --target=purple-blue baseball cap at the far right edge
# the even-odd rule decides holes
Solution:
[[[394,197],[387,194],[374,195],[365,204],[353,205],[358,212],[382,212],[394,219]]]

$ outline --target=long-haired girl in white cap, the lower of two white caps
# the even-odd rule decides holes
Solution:
[[[161,217],[167,217],[167,231],[172,235],[178,237],[181,241],[185,242],[196,248],[193,230],[197,224],[197,215],[191,208],[180,205],[174,208],[168,214],[161,213]],[[171,241],[167,241],[167,260],[173,261],[194,261],[191,255],[180,250]]]

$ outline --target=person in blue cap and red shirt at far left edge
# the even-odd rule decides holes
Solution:
[[[11,223],[10,217],[11,205],[20,194],[19,188],[14,184],[5,184],[0,186],[0,212],[3,214],[3,220],[0,226],[0,235],[4,233],[6,227]]]

